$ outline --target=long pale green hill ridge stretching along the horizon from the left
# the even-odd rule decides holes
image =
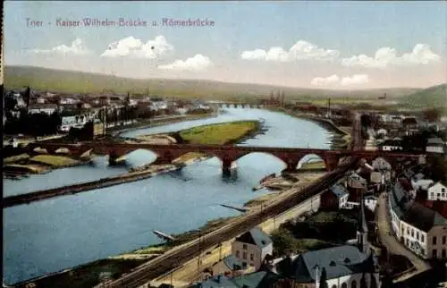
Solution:
[[[285,97],[295,99],[348,97],[376,99],[387,93],[387,98],[403,97],[417,89],[368,89],[329,90],[275,87],[249,83],[227,83],[215,80],[130,79],[88,72],[53,70],[31,66],[5,66],[4,85],[7,89],[30,86],[37,90],[72,93],[100,93],[113,90],[117,93],[131,91],[168,97],[196,97],[207,99],[236,100],[253,97],[269,97],[274,89],[282,89]]]

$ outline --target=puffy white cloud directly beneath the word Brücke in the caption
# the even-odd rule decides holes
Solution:
[[[148,40],[146,43],[131,36],[111,43],[101,56],[156,59],[170,51],[173,51],[173,46],[167,43],[164,36],[157,36],[154,40]]]

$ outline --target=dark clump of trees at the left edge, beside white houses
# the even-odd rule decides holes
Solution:
[[[5,134],[25,134],[31,136],[45,136],[55,134],[62,124],[62,117],[57,112],[53,114],[28,114],[26,109],[20,111],[19,117],[6,115],[4,123]]]

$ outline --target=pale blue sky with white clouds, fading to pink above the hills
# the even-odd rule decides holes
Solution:
[[[447,82],[447,3],[7,1],[4,61],[316,89]]]

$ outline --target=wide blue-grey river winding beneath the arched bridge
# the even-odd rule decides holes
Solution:
[[[263,120],[265,134],[240,145],[329,148],[332,134],[316,123],[261,109],[227,108],[215,118],[127,131],[122,136],[179,131],[236,120]],[[147,150],[128,155],[128,165],[155,159]],[[38,275],[78,266],[98,258],[160,242],[152,233],[182,233],[207,220],[239,212],[220,204],[242,206],[267,191],[251,191],[266,174],[285,165],[273,156],[252,153],[237,161],[237,177],[222,177],[217,158],[181,171],[108,187],[76,196],[48,199],[4,210],[4,282],[13,284]],[[71,167],[21,181],[4,180],[4,195],[54,188],[113,174],[125,167],[108,167],[105,157],[94,165]]]

